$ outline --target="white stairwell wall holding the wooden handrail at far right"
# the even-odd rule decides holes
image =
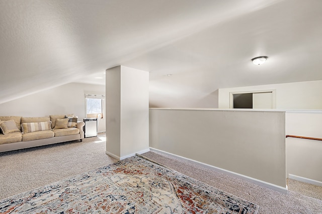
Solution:
[[[322,111],[286,112],[285,130],[286,135],[322,138]],[[322,141],[286,138],[287,175],[316,180],[322,185],[321,154]]]

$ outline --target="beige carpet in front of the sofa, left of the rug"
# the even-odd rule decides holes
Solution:
[[[105,154],[105,133],[70,141],[0,153],[0,198],[80,174],[117,160]]]

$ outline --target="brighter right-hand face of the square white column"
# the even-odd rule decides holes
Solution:
[[[149,149],[149,73],[121,66],[121,157]]]

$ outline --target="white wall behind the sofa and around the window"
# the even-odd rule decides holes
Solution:
[[[0,104],[0,115],[44,117],[51,114],[74,113],[79,121],[83,121],[86,117],[86,93],[105,94],[105,86],[83,83],[65,84]],[[105,131],[105,117],[102,118],[98,131]]]

